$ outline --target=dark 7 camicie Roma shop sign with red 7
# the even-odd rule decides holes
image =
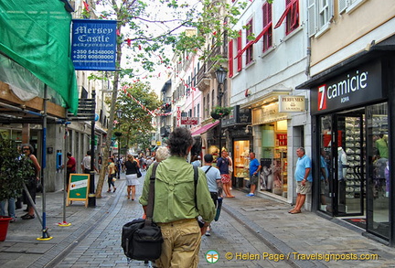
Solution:
[[[312,88],[311,112],[343,110],[385,98],[381,83],[381,62],[347,70],[334,79]]]

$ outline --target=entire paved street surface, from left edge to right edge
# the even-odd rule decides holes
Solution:
[[[39,221],[18,218],[10,224],[6,241],[0,242],[0,266],[144,266],[137,261],[128,265],[120,242],[122,225],[143,211],[136,200],[127,200],[124,179],[116,184],[116,193],[104,192],[95,208],[85,208],[82,202],[69,206],[69,227],[58,224],[63,220],[63,193],[48,193],[47,226],[53,239],[37,241],[42,236]],[[137,189],[140,193],[141,186]],[[307,211],[289,214],[288,204],[272,198],[232,193],[236,198],[224,199],[212,235],[202,238],[199,267],[395,267],[394,250],[369,240],[356,227],[350,230],[347,223],[342,226]],[[40,202],[37,198],[39,207]],[[25,213],[16,211],[18,217]],[[219,252],[218,263],[206,261],[209,250]],[[325,260],[329,257],[338,260]],[[345,260],[350,258],[368,260]]]

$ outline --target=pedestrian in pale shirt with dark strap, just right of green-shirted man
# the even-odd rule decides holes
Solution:
[[[204,155],[205,165],[200,167],[206,174],[208,181],[208,191],[210,192],[211,199],[214,202],[214,206],[217,208],[217,200],[222,197],[222,181],[218,168],[212,168],[212,162],[214,158],[212,155]],[[211,224],[208,226],[206,236],[210,236]]]

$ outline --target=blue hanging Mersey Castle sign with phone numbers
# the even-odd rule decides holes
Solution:
[[[72,20],[71,59],[75,70],[115,70],[116,27],[116,20]]]

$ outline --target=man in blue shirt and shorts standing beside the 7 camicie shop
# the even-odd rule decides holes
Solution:
[[[295,180],[296,180],[296,205],[294,209],[288,211],[291,214],[301,213],[305,201],[305,195],[311,191],[313,177],[311,175],[311,159],[305,155],[304,148],[299,147],[296,150],[296,155],[299,157],[296,162]]]

